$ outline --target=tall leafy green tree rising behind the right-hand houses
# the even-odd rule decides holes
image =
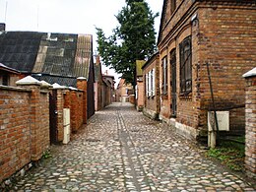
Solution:
[[[116,16],[120,26],[106,37],[96,28],[97,51],[106,66],[113,68],[127,83],[135,86],[136,60],[151,56],[156,50],[154,14],[145,0],[126,0]]]

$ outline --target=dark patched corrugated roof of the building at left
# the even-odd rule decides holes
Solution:
[[[40,77],[39,80],[48,83],[56,80],[57,82],[53,83],[62,85],[65,82],[67,86],[74,86],[73,79],[89,79],[90,66],[94,65],[93,36],[50,32],[3,32],[0,34],[0,62],[23,73],[40,74],[34,77]]]

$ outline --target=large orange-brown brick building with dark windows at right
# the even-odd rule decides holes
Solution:
[[[244,133],[242,74],[256,63],[253,0],[164,0],[160,21],[160,118],[183,135],[207,134],[207,112],[229,111],[229,130]]]

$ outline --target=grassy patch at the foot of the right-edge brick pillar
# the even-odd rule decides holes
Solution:
[[[236,141],[242,141],[243,138],[238,138]],[[207,157],[220,160],[224,165],[231,170],[244,171],[244,145],[242,142],[223,140],[219,147],[210,149],[206,153]]]

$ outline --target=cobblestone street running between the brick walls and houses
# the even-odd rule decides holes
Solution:
[[[166,125],[113,103],[11,191],[256,191]]]

